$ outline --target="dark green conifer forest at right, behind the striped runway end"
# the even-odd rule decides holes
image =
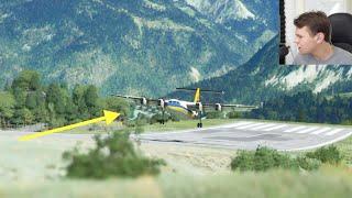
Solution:
[[[311,91],[282,96],[266,101],[246,118],[318,123],[352,124],[352,97],[315,95]]]

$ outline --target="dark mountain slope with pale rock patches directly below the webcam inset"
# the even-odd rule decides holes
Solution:
[[[279,66],[278,55],[273,53],[277,52],[277,42],[275,36],[244,65],[189,87],[223,90],[226,94],[220,98],[223,102],[252,105],[306,90],[324,95],[352,91],[352,66]],[[169,97],[190,99],[184,92],[173,92]],[[207,96],[204,100],[211,98]]]

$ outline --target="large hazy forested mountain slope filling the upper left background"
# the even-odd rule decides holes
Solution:
[[[250,30],[229,29],[185,1],[1,1],[0,85],[34,69],[47,84],[94,84],[105,95],[157,97],[227,74],[268,41],[270,32],[248,40]]]

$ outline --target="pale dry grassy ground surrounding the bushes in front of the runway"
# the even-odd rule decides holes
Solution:
[[[180,124],[188,128],[194,123],[197,122]],[[172,125],[168,128],[173,131]],[[91,146],[89,142],[82,144]],[[73,145],[75,142],[61,139],[19,143],[1,136],[0,197],[350,197],[352,194],[352,169],[348,166],[323,166],[317,172],[232,173],[229,164],[235,151],[166,144],[140,147],[145,155],[167,162],[156,178],[66,179],[61,154]],[[351,165],[352,138],[336,145]]]

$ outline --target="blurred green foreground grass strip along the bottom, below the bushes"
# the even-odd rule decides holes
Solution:
[[[0,185],[1,197],[350,197],[351,170],[271,170],[195,176],[162,174],[138,179],[59,180]],[[20,185],[20,186],[19,186]]]

